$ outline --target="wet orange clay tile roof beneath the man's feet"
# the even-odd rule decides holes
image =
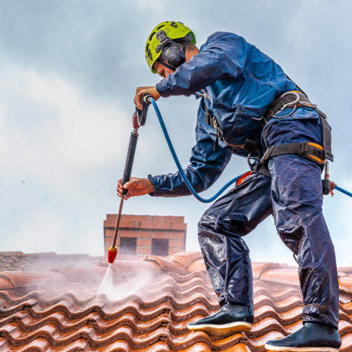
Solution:
[[[0,352],[265,351],[267,340],[302,326],[303,298],[294,267],[252,267],[252,331],[223,339],[187,329],[188,322],[219,309],[197,252],[115,261],[111,267],[95,260],[56,263],[45,272],[0,272]],[[339,269],[342,352],[352,351],[351,274],[352,267]]]

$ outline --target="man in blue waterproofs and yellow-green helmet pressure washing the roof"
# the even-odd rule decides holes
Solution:
[[[142,94],[200,98],[196,141],[185,173],[201,192],[221,175],[232,154],[256,160],[252,171],[199,221],[199,245],[221,309],[188,329],[213,336],[250,331],[254,318],[252,269],[243,236],[270,214],[281,240],[297,256],[304,326],[271,351],[338,351],[336,257],[322,214],[321,171],[332,160],[325,115],[283,69],[236,34],[212,34],[200,50],[195,34],[166,21],[148,36],[146,61],[164,80]],[[263,153],[264,156],[263,156]],[[190,195],[179,173],[131,179],[126,199]],[[122,196],[121,180],[118,195]]]

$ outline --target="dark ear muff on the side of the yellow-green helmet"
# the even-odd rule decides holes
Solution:
[[[181,66],[186,61],[186,56],[184,53],[186,50],[186,41],[190,40],[188,39],[188,37],[177,40],[177,41],[183,41],[184,43],[183,50],[181,49],[181,47],[179,47],[179,45],[175,41],[172,41],[166,36],[166,33],[164,30],[159,30],[159,32],[157,32],[156,34],[156,37],[160,42],[160,44],[157,45],[156,52],[161,51],[162,58],[164,58],[164,60],[168,63],[168,65],[172,66],[174,70],[175,68]],[[159,62],[162,63],[162,61],[159,61]]]

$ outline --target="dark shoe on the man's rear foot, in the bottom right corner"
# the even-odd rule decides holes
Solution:
[[[268,351],[337,352],[341,347],[338,331],[331,325],[306,322],[295,333],[265,344]]]

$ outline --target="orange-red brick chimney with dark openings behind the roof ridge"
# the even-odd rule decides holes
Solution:
[[[117,214],[104,220],[104,252],[113,242]],[[116,246],[117,260],[138,260],[148,254],[169,256],[186,250],[184,217],[122,215]]]

